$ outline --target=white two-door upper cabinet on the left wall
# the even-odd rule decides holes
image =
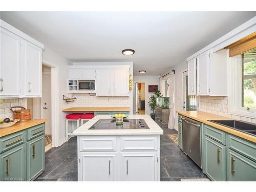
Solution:
[[[41,97],[44,45],[0,22],[0,98]]]

